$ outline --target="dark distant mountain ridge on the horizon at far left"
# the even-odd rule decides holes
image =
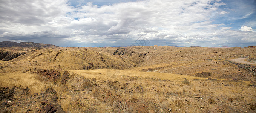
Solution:
[[[12,42],[12,41],[2,41],[0,42],[0,47],[39,47],[39,48],[52,48],[52,47],[59,47],[52,44],[40,44],[40,43],[34,43],[34,42]]]

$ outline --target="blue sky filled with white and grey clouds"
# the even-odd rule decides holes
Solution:
[[[0,0],[0,41],[256,46],[256,0]]]

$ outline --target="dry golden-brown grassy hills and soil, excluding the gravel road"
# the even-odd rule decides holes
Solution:
[[[254,58],[254,47],[2,47],[0,52],[0,113],[256,109],[256,66],[232,60]]]

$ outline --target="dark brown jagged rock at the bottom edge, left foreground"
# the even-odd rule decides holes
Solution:
[[[40,108],[37,113],[65,113],[59,104],[49,104]]]

